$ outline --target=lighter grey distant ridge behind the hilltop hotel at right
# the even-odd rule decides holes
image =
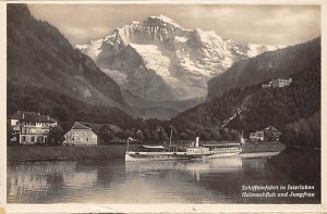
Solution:
[[[287,77],[320,59],[320,38],[234,63],[208,81],[208,97],[232,88],[245,88],[277,77]]]

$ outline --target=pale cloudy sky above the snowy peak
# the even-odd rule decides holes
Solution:
[[[295,45],[320,35],[318,5],[242,4],[28,4],[72,45],[109,35],[150,15],[166,15],[184,28],[215,30],[240,43]]]

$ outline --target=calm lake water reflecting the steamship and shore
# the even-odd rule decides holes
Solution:
[[[265,158],[21,162],[8,164],[7,197],[8,203],[318,203],[317,194],[242,196],[242,186],[253,185],[296,184]]]

